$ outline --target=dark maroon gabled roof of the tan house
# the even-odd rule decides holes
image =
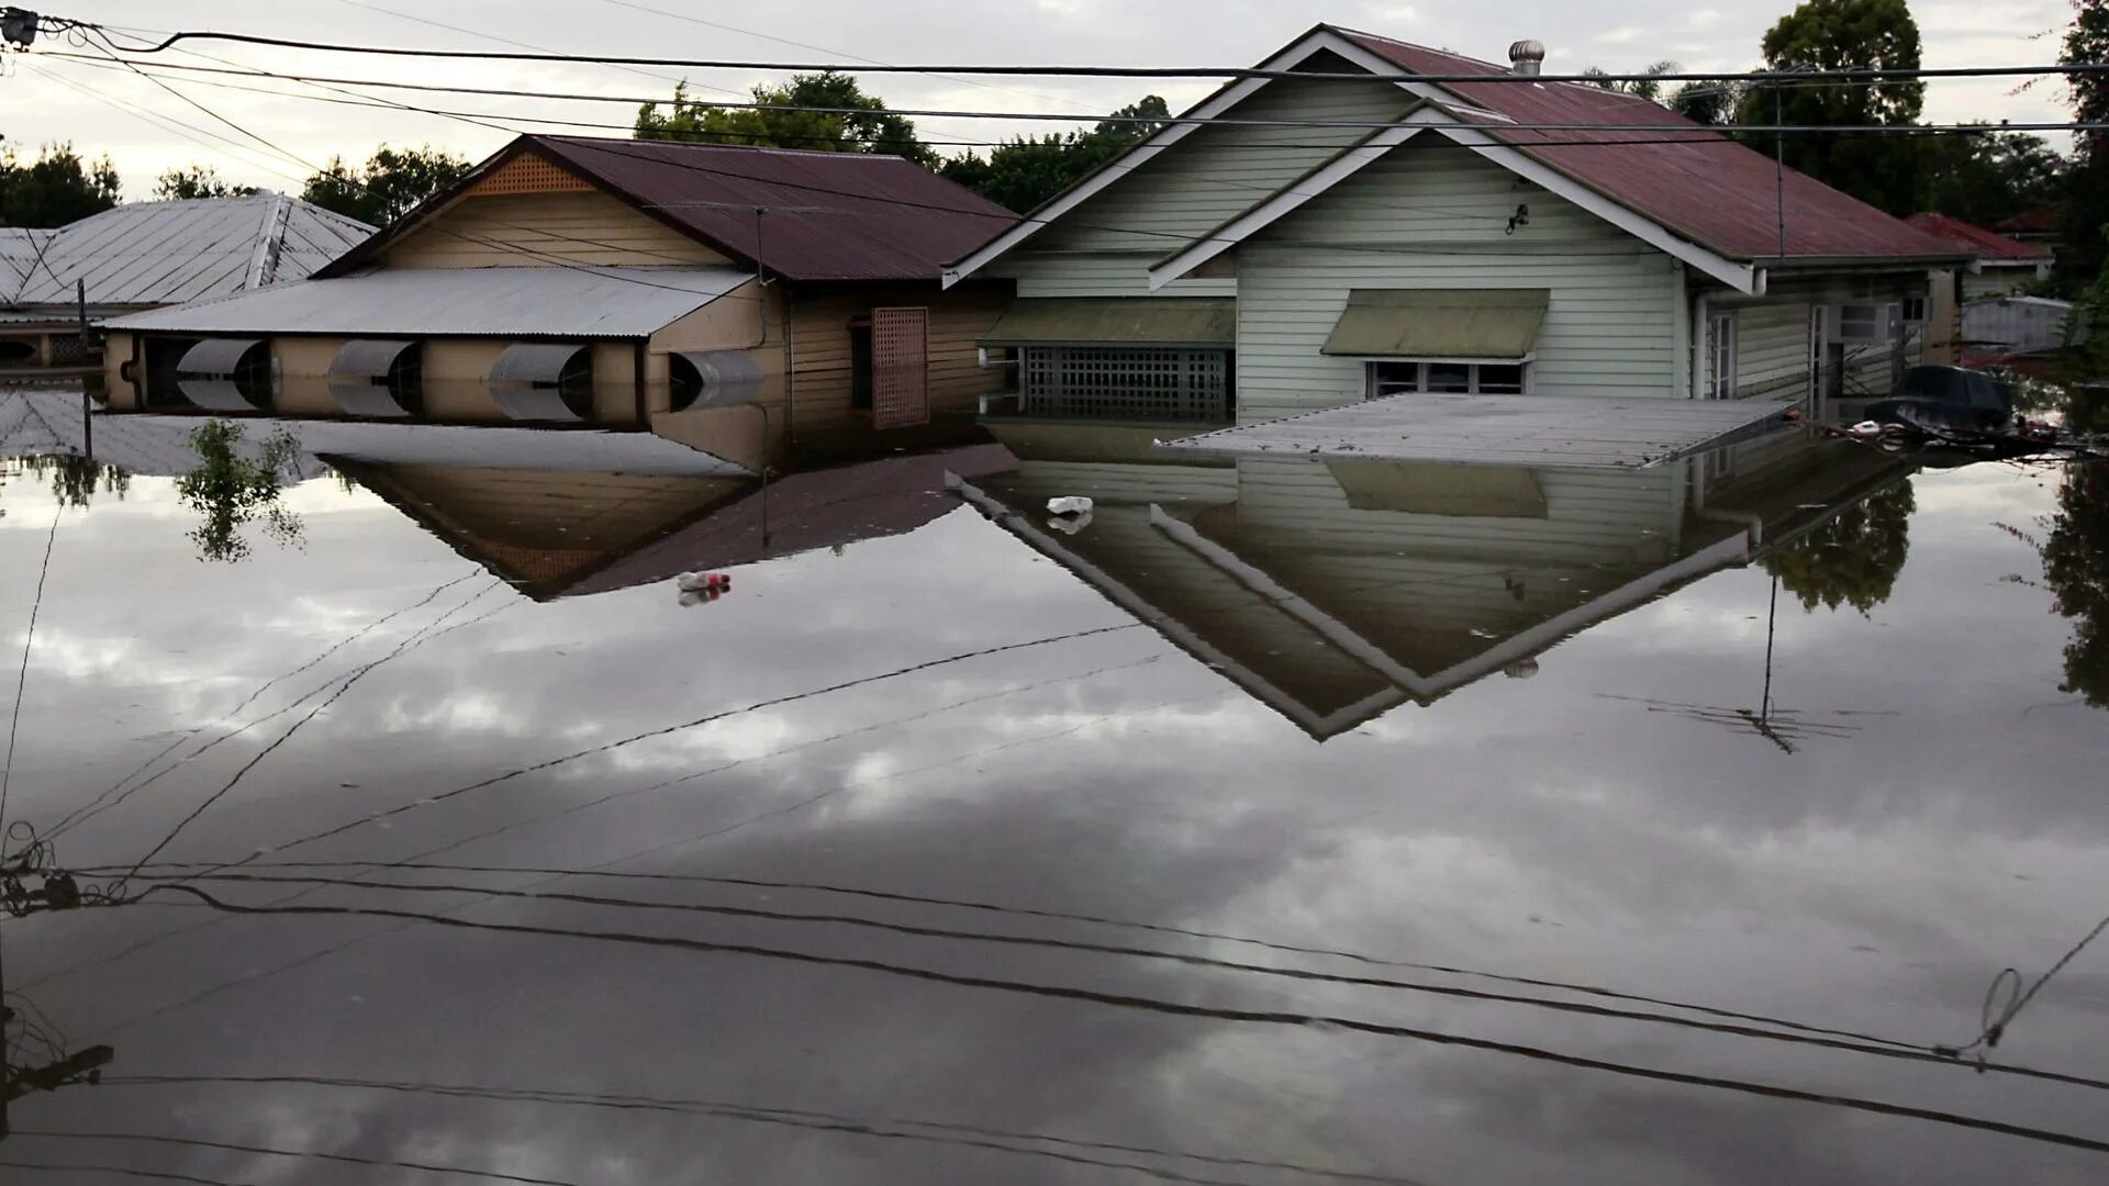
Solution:
[[[525,152],[749,268],[791,281],[934,281],[947,260],[1017,222],[1008,209],[901,156],[523,135],[327,274],[373,260]]]

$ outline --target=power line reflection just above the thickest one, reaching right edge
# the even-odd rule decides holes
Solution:
[[[1902,1049],[1896,1042],[1883,1040],[1841,1040],[1824,1038],[1812,1034],[1782,1034],[1778,1030],[1763,1030],[1755,1026],[1731,1026],[1721,1021],[1696,1021],[1691,1017],[1670,1017],[1662,1013],[1643,1013],[1634,1009],[1613,1009],[1605,1005],[1586,1005],[1578,1000],[1548,1000],[1544,996],[1514,996],[1502,992],[1483,992],[1455,986],[1438,983],[1417,983],[1388,977],[1369,975],[1341,975],[1322,973],[1310,969],[1284,969],[1272,964],[1251,964],[1238,960],[1223,960],[1213,956],[1194,956],[1183,952],[1162,952],[1154,948],[1128,948],[1118,943],[1086,943],[1076,939],[1046,939],[1036,935],[1000,935],[987,931],[957,931],[949,926],[920,926],[911,922],[886,922],[875,918],[858,918],[850,914],[801,914],[789,910],[761,910],[744,905],[709,905],[709,903],[688,903],[688,901],[654,901],[654,899],[631,899],[631,897],[605,897],[605,895],[580,895],[580,893],[540,893],[540,891],[506,891],[489,886],[468,886],[468,884],[390,884],[390,882],[367,882],[359,878],[278,878],[278,876],[257,876],[257,874],[207,874],[207,876],[167,876],[169,882],[190,882],[190,880],[217,880],[217,882],[249,882],[249,884],[314,884],[314,886],[335,886],[335,888],[363,888],[363,891],[396,891],[396,893],[441,893],[441,895],[481,895],[483,899],[510,899],[510,901],[561,901],[572,905],[601,905],[612,910],[645,910],[645,912],[675,912],[675,914],[709,914],[717,918],[749,918],[759,922],[801,922],[801,924],[831,924],[831,926],[860,926],[869,931],[888,931],[894,935],[913,935],[920,939],[960,939],[968,943],[995,943],[1014,948],[1044,948],[1054,952],[1086,952],[1099,956],[1128,956],[1141,960],[1164,960],[1185,967],[1282,977],[1297,981],[1316,983],[1337,983],[1348,988],[1381,988],[1394,992],[1419,992],[1428,996],[1449,996],[1457,1000],[1478,1000],[1489,1005],[1525,1005],[1533,1009],[1550,1009],[1554,1013],[1580,1013],[1588,1017],[1609,1017],[1620,1021],[1647,1021],[1658,1026],[1675,1026],[1685,1030],[1706,1030],[1715,1034],[1729,1034],[1738,1038],[1759,1038],[1774,1042],[1797,1042],[1807,1047],[1822,1047],[1835,1051],[1850,1051],[1877,1057],[1902,1057],[1907,1061],[1949,1061],[1947,1057],[1926,1051],[1926,1049]],[[276,903],[274,903],[276,905]],[[270,910],[270,907],[262,907]],[[453,914],[453,912],[449,912]],[[2056,1072],[2035,1072],[2027,1068],[2014,1068],[2012,1074],[2056,1078],[2058,1083],[2073,1083],[2084,1087],[2096,1087],[2109,1091],[2109,1083],[2063,1076]]]

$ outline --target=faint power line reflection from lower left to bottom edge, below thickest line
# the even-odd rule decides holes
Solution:
[[[1415,1186],[1409,1178],[1396,1178],[1386,1173],[1356,1173],[1348,1169],[1324,1169],[1312,1165],[1297,1165],[1286,1161],[1259,1161],[1242,1156],[1219,1156],[1206,1152],[1187,1150],[1166,1150],[1152,1146],[1118,1144],[1118,1142],[1095,1142],[1082,1137],[1057,1137],[1046,1133],[1017,1133],[1004,1129],[989,1129],[981,1125],[957,1125],[949,1121],[905,1121],[896,1116],[844,1116],[835,1112],[814,1112],[810,1108],[772,1108],[761,1104],[736,1104],[717,1099],[656,1099],[650,1095],[601,1095],[601,1093],[580,1093],[580,1091],[536,1091],[536,1089],[491,1089],[491,1087],[460,1087],[460,1085],[439,1085],[439,1083],[386,1083],[369,1078],[325,1078],[325,1076],[291,1076],[291,1074],[228,1074],[228,1076],[152,1076],[137,1074],[124,1078],[110,1078],[110,1087],[196,1087],[196,1085],[253,1085],[253,1087],[333,1087],[350,1091],[399,1091],[413,1095],[441,1095],[447,1099],[489,1099],[500,1104],[557,1104],[569,1108],[605,1108],[620,1112],[673,1112],[685,1116],[713,1116],[725,1121],[747,1121],[763,1125],[795,1125],[820,1131],[839,1131],[867,1137],[890,1137],[890,1140],[917,1140],[917,1142],[939,1142],[939,1144],[968,1144],[957,1140],[947,1140],[945,1135],[932,1133],[964,1133],[970,1137],[989,1137],[1000,1142],[1029,1142],[1059,1148],[1092,1150],[1092,1152],[1128,1152],[1156,1156],[1166,1161],[1192,1161],[1200,1165],[1223,1165],[1232,1169],[1278,1169],[1286,1173],[1303,1173],[1310,1178],[1327,1178],[1335,1182],[1379,1182],[1386,1186]],[[993,1148],[1000,1152],[1014,1152],[1025,1156],[1057,1156],[1061,1161],[1071,1161],[1080,1165],[1097,1165],[1105,1169],[1137,1169],[1154,1178],[1164,1178],[1173,1182],[1208,1182],[1202,1178],[1168,1175],[1158,1167],[1133,1165],[1133,1163],[1109,1163],[1097,1159],[1061,1156],[1048,1150],[1017,1148],[1017,1146],[991,1146],[983,1142],[972,1142],[970,1148]]]

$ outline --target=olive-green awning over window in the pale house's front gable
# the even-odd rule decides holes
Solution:
[[[1327,355],[1358,359],[1525,359],[1546,289],[1354,289]]]

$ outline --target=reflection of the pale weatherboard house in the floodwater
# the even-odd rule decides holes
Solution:
[[[1118,426],[1002,428],[962,492],[1314,737],[1487,675],[1904,475],[1782,433],[1653,468],[1192,460]],[[1088,521],[1046,500],[1088,496]]]

